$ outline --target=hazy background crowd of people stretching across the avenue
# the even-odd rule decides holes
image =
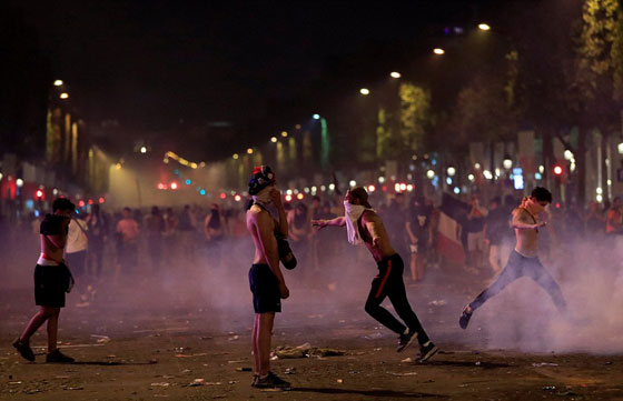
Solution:
[[[439,208],[431,199],[395,193],[393,197],[370,196],[378,214],[384,219],[392,243],[405,257],[408,267],[405,279],[412,283],[425,279],[426,270],[443,262],[437,253],[437,223]],[[492,197],[482,202],[474,194],[468,200],[461,221],[461,239],[465,251],[463,271],[474,274],[496,274],[511,254],[514,233],[510,225],[511,212],[517,207],[517,197]],[[319,255],[339,254],[345,247],[339,234],[318,235],[312,221],[333,219],[344,214],[342,197],[308,197],[307,201],[284,203],[288,222],[288,241],[299,264],[310,272],[322,269]],[[38,247],[43,215],[24,215],[14,224],[0,220],[6,237],[3,254],[19,258],[18,250]],[[574,204],[551,205],[543,212],[548,229],[541,235],[540,253],[547,259],[551,243],[563,248],[578,238],[596,245],[617,247],[623,239],[623,202],[615,198],[612,204],[591,202],[585,210]],[[76,277],[88,277],[91,282],[102,277],[118,278],[120,272],[157,274],[164,265],[175,261],[220,268],[224,249],[244,249],[249,245],[245,222],[245,207],[235,203],[224,208],[197,204],[182,208],[130,209],[108,211],[99,204],[79,210],[69,225],[67,260]],[[560,247],[558,247],[560,248]],[[36,252],[33,250],[33,252]],[[23,253],[20,252],[20,255]],[[105,258],[106,255],[106,258]]]

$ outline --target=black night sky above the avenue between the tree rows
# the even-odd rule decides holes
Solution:
[[[184,120],[229,122],[240,141],[291,127],[400,70],[441,27],[492,1],[17,2],[90,124],[149,137]],[[253,129],[249,129],[253,127]]]

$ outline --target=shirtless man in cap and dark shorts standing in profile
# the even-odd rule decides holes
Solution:
[[[270,371],[270,337],[275,313],[281,311],[281,299],[289,297],[289,290],[279,269],[279,251],[275,231],[288,235],[286,211],[281,194],[275,187],[275,173],[268,166],[256,167],[249,181],[253,203],[247,210],[247,229],[255,244],[255,257],[249,270],[249,284],[254,295],[255,321],[253,329],[253,352],[255,388],[289,389],[290,383]],[[275,220],[267,210],[273,204],[279,213]]]

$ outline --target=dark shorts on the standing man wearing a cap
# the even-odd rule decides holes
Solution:
[[[268,264],[251,265],[249,270],[249,285],[254,294],[254,309],[256,313],[281,311],[279,282]]]

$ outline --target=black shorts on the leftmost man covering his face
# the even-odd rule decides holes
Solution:
[[[67,269],[62,265],[40,265],[34,268],[34,303],[39,307],[65,308]]]

